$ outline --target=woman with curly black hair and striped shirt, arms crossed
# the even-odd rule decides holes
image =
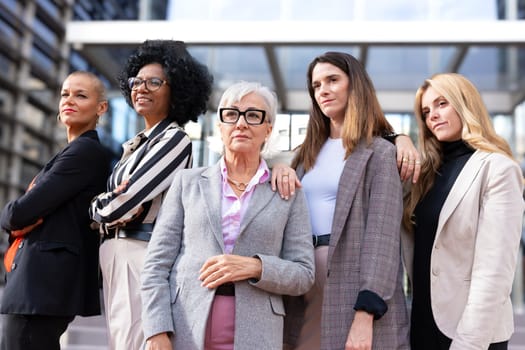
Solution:
[[[178,169],[190,168],[191,140],[182,127],[206,111],[212,76],[183,42],[145,41],[119,83],[146,128],[124,143],[107,192],[92,202],[100,223],[104,304],[111,349],[141,349],[140,273],[162,199]]]

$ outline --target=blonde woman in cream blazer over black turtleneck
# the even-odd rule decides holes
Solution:
[[[427,79],[415,111],[422,170],[402,231],[412,349],[507,349],[524,210],[520,168],[464,77]]]

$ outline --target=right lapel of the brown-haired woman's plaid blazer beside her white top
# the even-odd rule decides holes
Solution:
[[[330,236],[331,247],[334,247],[337,244],[339,237],[341,237],[346,218],[352,207],[352,201],[354,200],[359,183],[364,176],[366,164],[371,155],[372,150],[365,148],[363,143],[360,143],[346,160],[343,172],[339,179],[337,198],[335,201],[335,211],[332,219],[332,232]],[[333,249],[330,248],[328,261],[330,261],[332,251]]]

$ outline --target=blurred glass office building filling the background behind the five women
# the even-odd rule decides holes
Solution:
[[[306,68],[313,57],[328,50],[349,52],[365,64],[396,131],[414,137],[413,95],[423,79],[443,71],[466,75],[486,97],[498,133],[521,160],[525,154],[525,31],[521,41],[469,38],[478,38],[472,28],[478,28],[480,21],[490,27],[524,18],[525,0],[3,0],[0,206],[23,193],[63,146],[65,132],[57,125],[56,114],[60,83],[68,72],[93,71],[109,87],[110,110],[98,130],[115,158],[121,143],[143,128],[142,118],[120,96],[115,77],[129,53],[144,40],[131,42],[130,38],[143,38],[151,23],[181,24],[185,29],[181,32],[166,25],[147,38],[189,37],[185,41],[190,52],[215,78],[209,112],[186,128],[194,141],[195,166],[216,161],[216,104],[222,91],[238,80],[259,81],[277,92],[281,104],[275,127],[278,147],[289,151],[299,145],[308,122]],[[113,42],[77,40],[72,24],[92,24],[90,38],[96,37],[100,23],[109,21],[131,22],[132,30],[102,33],[117,38]],[[289,24],[290,32],[272,36],[271,25],[280,23]],[[411,26],[409,35],[391,37],[405,25]],[[224,40],[213,39],[223,27],[229,28]],[[452,35],[449,27],[460,30]],[[340,28],[366,30],[341,33]],[[441,34],[444,39],[439,39]],[[412,37],[423,39],[414,43]],[[433,42],[433,38],[438,39]]]

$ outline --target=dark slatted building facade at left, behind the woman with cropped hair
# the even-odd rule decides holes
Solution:
[[[165,8],[164,8],[165,10]],[[66,41],[70,21],[138,18],[137,1],[3,0],[0,2],[0,206],[23,193],[46,162],[66,143],[57,122],[60,85],[73,70],[99,74]],[[116,108],[102,118],[99,135],[115,155],[111,135]],[[133,121],[137,118],[134,116]],[[133,133],[135,130],[133,130]],[[0,235],[0,252],[7,235]],[[2,269],[3,271],[3,265]],[[3,278],[0,278],[3,281]]]

